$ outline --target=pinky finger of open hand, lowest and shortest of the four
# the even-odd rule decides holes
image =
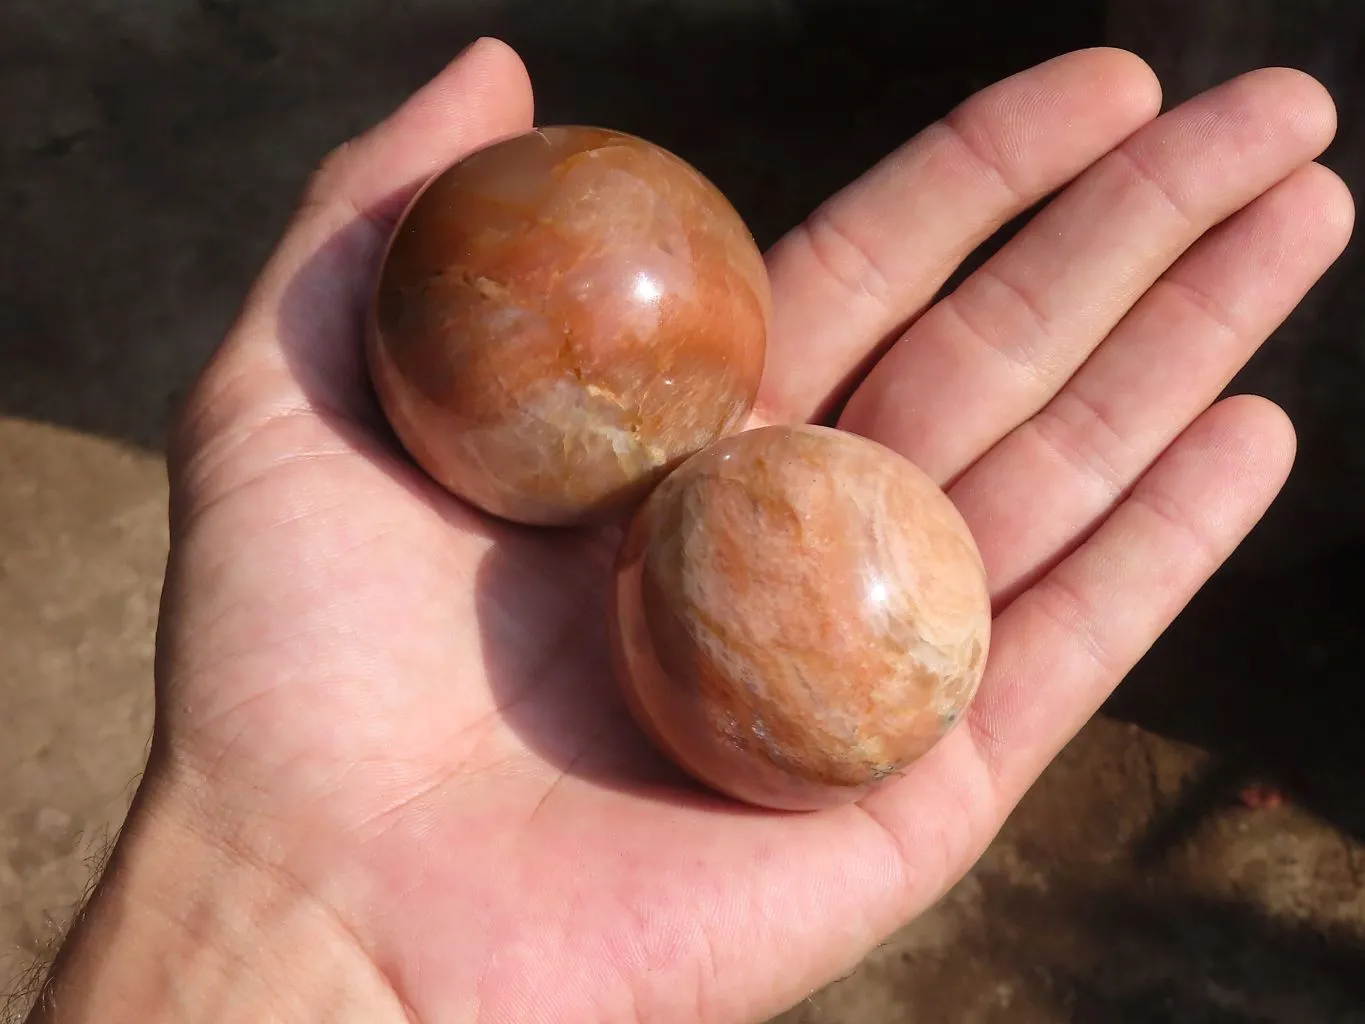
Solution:
[[[1002,808],[1017,801],[1242,542],[1294,461],[1264,399],[1204,412],[1070,557],[995,621],[968,732]]]

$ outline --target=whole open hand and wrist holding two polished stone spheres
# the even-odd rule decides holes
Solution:
[[[1350,233],[1332,104],[1268,70],[1158,109],[1138,59],[1063,56],[768,254],[756,422],[852,390],[842,426],[949,486],[996,610],[962,726],[811,815],[695,795],[629,724],[612,535],[474,515],[367,397],[386,232],[530,126],[517,57],[479,42],[333,154],[176,433],[150,763],[31,1020],[762,1020],[934,902],[1293,460],[1276,407],[1216,397]]]

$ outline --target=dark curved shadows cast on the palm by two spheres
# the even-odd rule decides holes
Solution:
[[[532,528],[495,520],[448,494],[404,452],[364,367],[366,309],[347,310],[344,339],[319,330],[315,311],[337,291],[344,268],[378,273],[382,242],[410,190],[393,194],[339,231],[291,281],[278,315],[280,348],[314,414],[358,457],[384,471],[394,494],[434,511],[450,542],[474,538],[472,572],[480,677],[449,666],[450,685],[480,685],[526,751],[550,766],[624,795],[693,810],[773,815],[719,797],[665,759],[629,717],[612,664],[607,593],[621,524]],[[358,259],[356,255],[364,258]],[[369,298],[364,284],[348,295]],[[319,298],[322,296],[322,298]],[[453,583],[453,586],[457,586]],[[452,617],[450,628],[463,624]],[[377,635],[375,643],[388,638]],[[401,680],[394,680],[401,685]],[[450,722],[452,732],[467,722]]]

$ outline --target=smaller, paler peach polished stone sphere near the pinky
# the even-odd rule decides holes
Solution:
[[[856,800],[928,751],[975,695],[990,629],[943,492],[814,426],[685,461],[636,513],[613,594],[644,730],[714,789],[784,810]]]

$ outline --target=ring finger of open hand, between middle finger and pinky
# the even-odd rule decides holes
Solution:
[[[1205,235],[1041,410],[951,487],[998,603],[1103,519],[1340,255],[1354,209],[1309,164]]]

